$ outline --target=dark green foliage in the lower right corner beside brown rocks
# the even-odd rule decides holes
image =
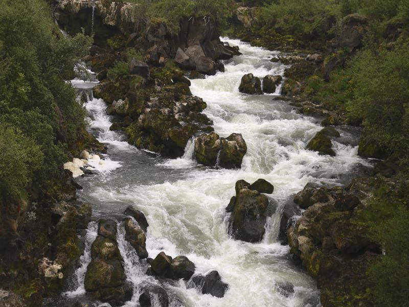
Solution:
[[[381,186],[362,218],[371,225],[371,239],[383,250],[368,271],[371,296],[376,305],[407,306],[409,287],[409,186]]]

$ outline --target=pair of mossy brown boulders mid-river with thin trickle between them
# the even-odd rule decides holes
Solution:
[[[195,139],[197,162],[215,167],[240,168],[247,152],[247,145],[241,134],[233,133],[227,138],[218,134],[202,134]]]

